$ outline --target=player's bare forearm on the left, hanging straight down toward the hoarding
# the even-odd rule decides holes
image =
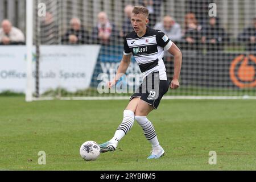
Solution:
[[[111,88],[112,86],[114,86],[117,81],[123,76],[123,74],[125,74],[125,72],[127,71],[129,65],[131,63],[131,55],[123,55],[123,58],[121,60],[121,63],[117,69],[117,75],[115,75],[115,78],[113,81],[108,82],[108,87]]]

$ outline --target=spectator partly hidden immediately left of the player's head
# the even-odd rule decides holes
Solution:
[[[131,14],[133,11],[133,6],[132,5],[125,6],[124,11],[125,11],[126,18],[125,20],[123,20],[122,31],[120,32],[120,36],[122,38],[126,36],[129,32],[133,31],[133,26],[131,26]]]

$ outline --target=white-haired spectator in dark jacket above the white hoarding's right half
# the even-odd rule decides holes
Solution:
[[[62,44],[89,44],[89,33],[81,26],[78,18],[72,18],[71,28],[61,38]]]

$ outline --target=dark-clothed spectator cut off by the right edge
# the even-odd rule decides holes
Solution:
[[[256,51],[256,17],[253,19],[253,26],[245,28],[238,35],[238,41],[246,43],[247,51]]]

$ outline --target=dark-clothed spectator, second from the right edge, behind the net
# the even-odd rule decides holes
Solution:
[[[201,42],[207,45],[207,51],[220,51],[226,40],[225,30],[220,27],[218,18],[211,17],[207,26],[202,28]]]

